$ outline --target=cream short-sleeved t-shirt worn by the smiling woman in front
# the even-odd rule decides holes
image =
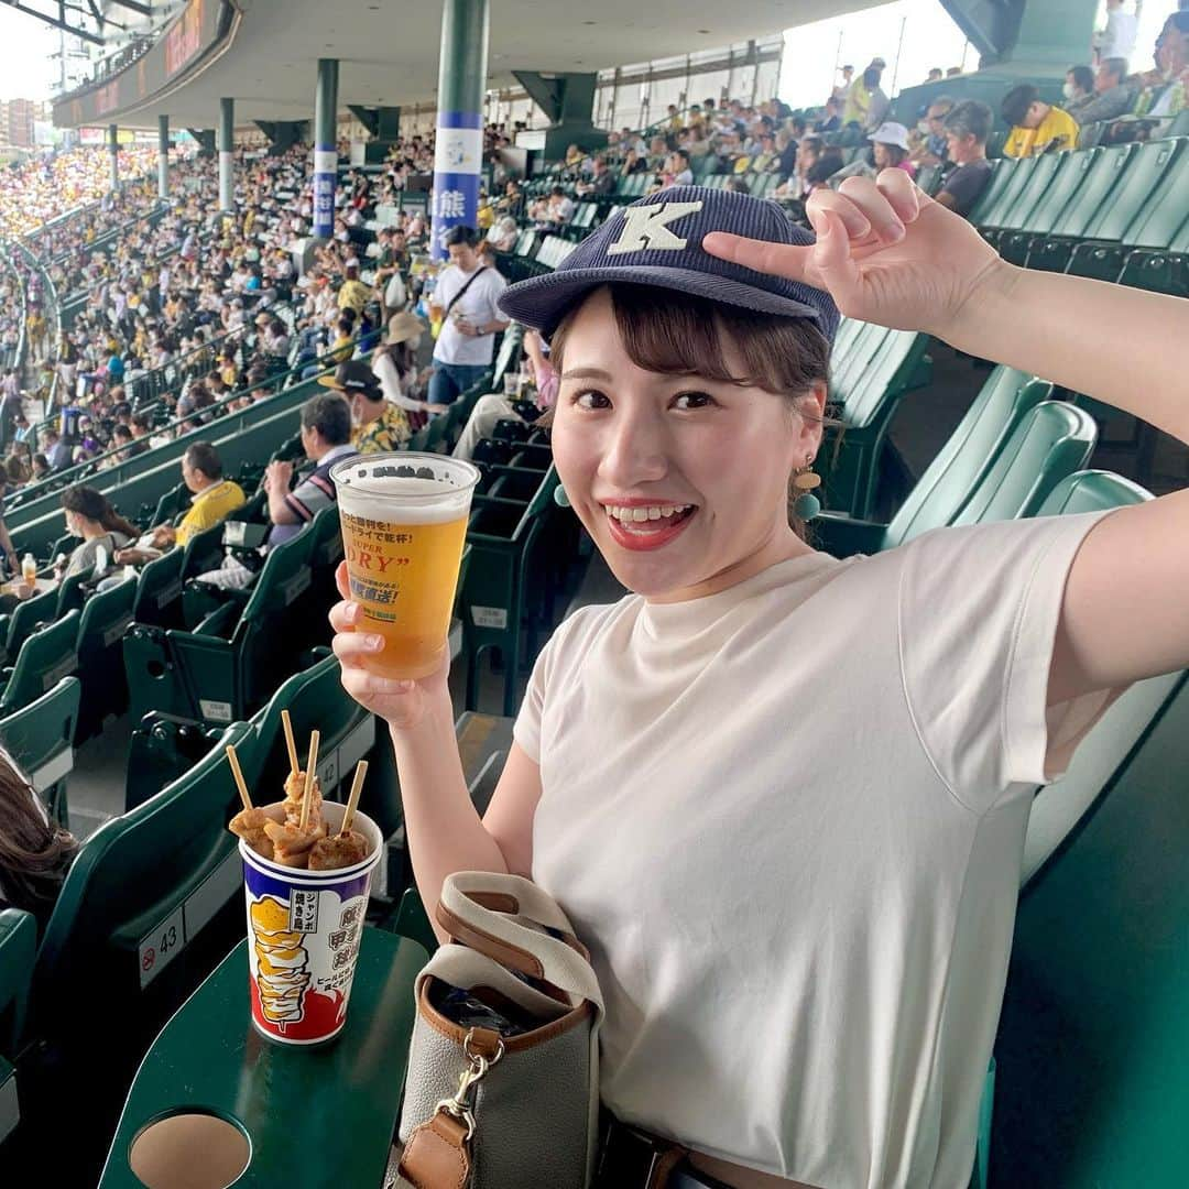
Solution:
[[[1045,710],[1102,515],[561,625],[515,737],[619,1118],[824,1189],[964,1189],[1046,747],[1063,772],[1112,700]]]

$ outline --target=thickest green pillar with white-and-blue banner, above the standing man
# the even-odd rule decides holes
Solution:
[[[445,233],[474,227],[483,169],[483,93],[487,78],[487,0],[446,0],[438,64],[433,258],[445,259]]]

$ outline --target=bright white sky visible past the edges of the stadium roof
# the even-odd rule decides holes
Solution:
[[[498,0],[493,2],[498,5]],[[1133,65],[1139,69],[1151,65],[1150,46],[1175,7],[1172,0],[1146,0]],[[962,65],[963,52],[968,69],[977,65],[977,55],[965,46],[965,39],[938,0],[897,0],[850,17],[788,30],[780,97],[792,107],[820,103],[830,93],[836,65],[849,62],[862,69],[876,55],[888,63],[883,88],[891,90],[901,27],[898,88],[923,82],[931,67],[944,70]],[[0,7],[0,44],[6,50],[0,99],[48,99],[61,70],[59,61],[51,57],[58,50],[57,32],[33,17]]]

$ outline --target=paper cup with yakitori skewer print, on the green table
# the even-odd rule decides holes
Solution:
[[[331,833],[345,810],[322,803]],[[371,849],[361,863],[334,872],[282,867],[240,839],[252,1023],[278,1044],[320,1044],[346,1024],[371,876],[384,842],[365,813],[356,813],[352,829]]]

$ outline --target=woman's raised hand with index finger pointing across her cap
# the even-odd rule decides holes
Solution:
[[[817,243],[795,247],[711,232],[712,256],[825,289],[848,317],[901,331],[946,328],[984,285],[1011,271],[960,215],[935,202],[902,169],[848,177],[814,190],[805,213]]]

